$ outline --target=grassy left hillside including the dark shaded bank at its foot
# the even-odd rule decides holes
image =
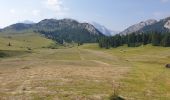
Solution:
[[[8,46],[9,43],[12,46]],[[28,48],[41,49],[53,43],[52,40],[46,39],[38,33],[0,33],[0,56],[21,56],[32,52]]]

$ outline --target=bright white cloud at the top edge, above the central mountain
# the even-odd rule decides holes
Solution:
[[[54,11],[57,15],[65,15],[69,10],[64,6],[62,0],[46,0],[45,1],[46,8],[51,11]]]

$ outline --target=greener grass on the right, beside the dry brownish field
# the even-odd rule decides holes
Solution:
[[[92,45],[84,48],[101,51]],[[123,46],[102,51],[116,55],[121,59],[119,62],[131,66],[131,71],[120,81],[121,95],[135,100],[170,99],[170,70],[165,68],[165,65],[170,63],[170,48],[150,45],[137,48]]]

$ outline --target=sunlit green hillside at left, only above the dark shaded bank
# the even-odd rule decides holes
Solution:
[[[0,33],[0,49],[1,50],[27,50],[29,48],[41,48],[50,45],[53,41],[40,36],[38,33]],[[12,46],[9,47],[8,43]]]

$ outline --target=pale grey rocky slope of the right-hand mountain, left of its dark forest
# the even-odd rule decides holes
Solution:
[[[150,19],[147,21],[142,21],[138,24],[132,25],[130,27],[128,27],[127,29],[125,29],[123,32],[121,32],[120,34],[122,35],[126,35],[126,34],[130,34],[133,32],[138,32],[141,31],[144,27],[149,26],[149,25],[153,25],[155,24],[157,21],[154,19]]]

